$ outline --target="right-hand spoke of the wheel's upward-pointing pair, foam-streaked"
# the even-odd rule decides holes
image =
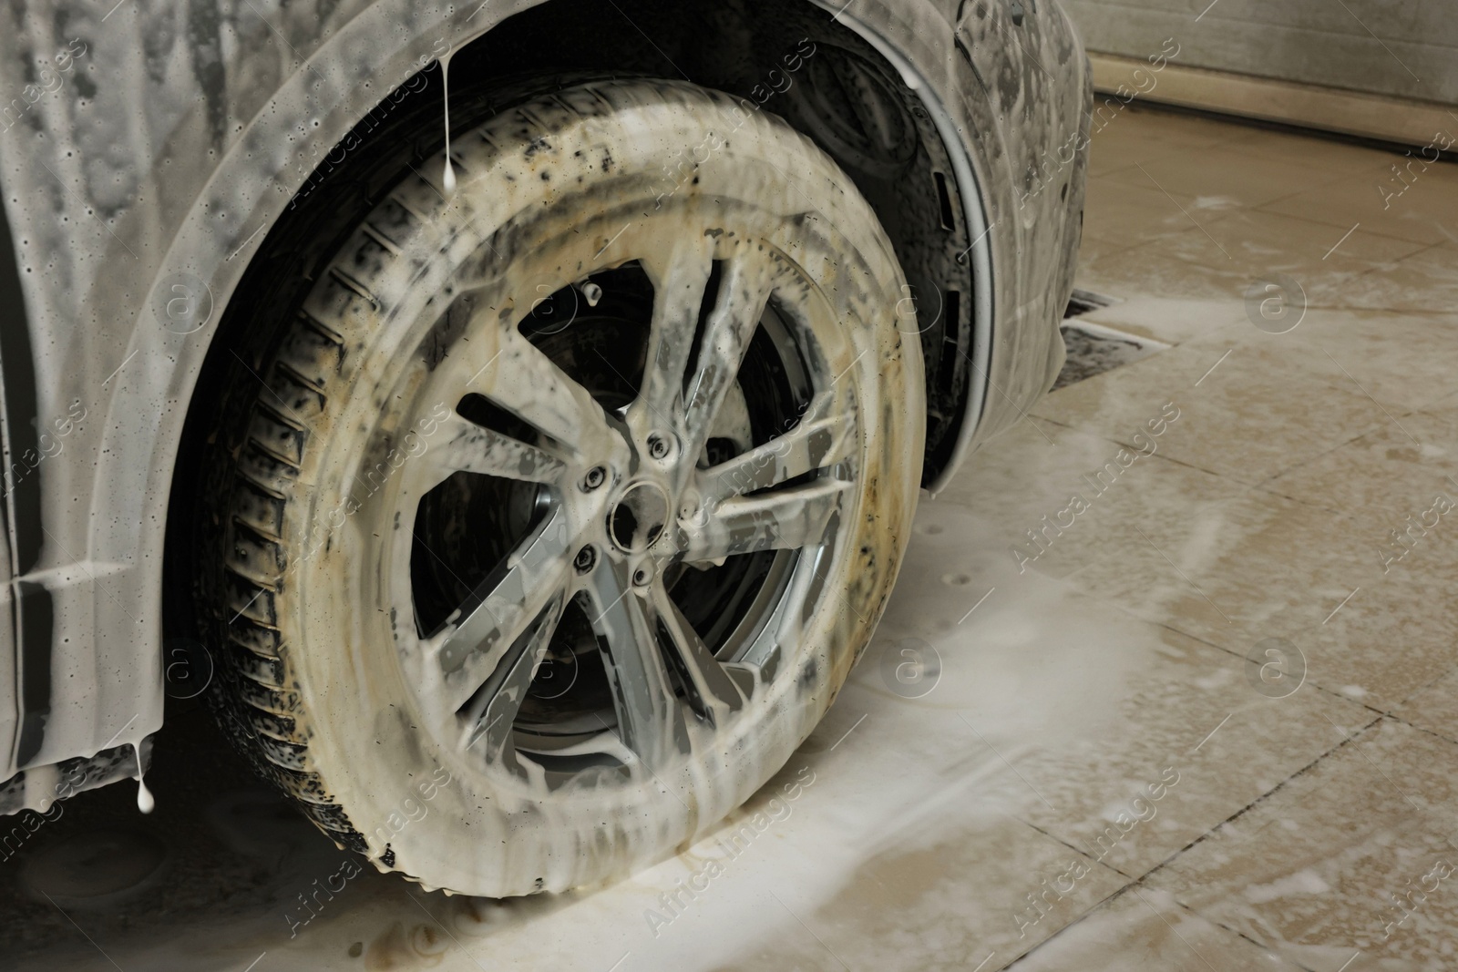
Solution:
[[[688,383],[684,409],[684,452],[697,456],[709,439],[714,414],[725,393],[739,376],[744,353],[749,347],[773,286],[763,254],[745,254],[729,261],[719,284],[719,296],[709,312],[698,360]]]

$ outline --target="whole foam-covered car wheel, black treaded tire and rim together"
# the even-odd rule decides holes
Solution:
[[[281,309],[200,590],[225,724],[340,845],[564,890],[720,820],[830,707],[910,535],[921,357],[850,179],[725,95],[583,83],[451,159]]]

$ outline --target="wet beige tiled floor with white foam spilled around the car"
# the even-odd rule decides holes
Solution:
[[[1384,200],[1391,163],[1137,108],[1101,131],[1077,286],[1118,302],[1080,321],[1171,347],[923,498],[825,723],[679,857],[507,902],[362,873],[295,924],[343,855],[198,758],[184,707],[153,818],[86,794],[6,863],[4,965],[1458,968],[1458,166]],[[168,864],[63,921],[25,869],[87,834]]]

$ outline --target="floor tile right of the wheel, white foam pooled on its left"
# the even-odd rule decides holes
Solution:
[[[1019,573],[986,517],[959,504],[924,507],[917,526],[904,593],[853,688],[895,695],[886,662],[895,650],[921,654],[891,662],[936,659],[939,681],[903,708],[917,711],[923,732],[946,727],[945,755],[921,756],[920,743],[894,732],[903,759],[945,765],[954,778],[965,777],[964,762],[984,761],[968,809],[989,801],[1128,877],[1330,749],[1333,721],[1354,729],[1376,718],[1311,688],[1277,698],[1252,681],[1258,666],[1242,654],[1079,593],[1085,574],[1124,570],[1111,545],[1102,563],[1059,580],[1041,568]],[[1098,535],[1089,544],[1098,546]],[[949,587],[965,593],[951,599]],[[878,726],[868,718],[863,730],[894,730],[898,711],[876,711],[885,713]]]

